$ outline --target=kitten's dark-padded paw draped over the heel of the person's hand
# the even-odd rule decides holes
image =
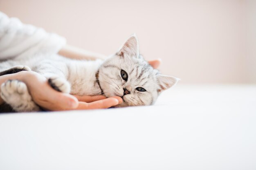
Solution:
[[[67,80],[61,77],[50,77],[48,82],[56,91],[70,93],[70,84]]]

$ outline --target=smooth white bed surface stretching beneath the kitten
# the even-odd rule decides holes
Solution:
[[[154,106],[0,115],[1,170],[255,170],[256,86],[181,86]]]

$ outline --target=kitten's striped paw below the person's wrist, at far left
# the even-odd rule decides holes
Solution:
[[[32,100],[27,85],[19,80],[7,80],[1,85],[0,93],[4,102],[18,112],[39,111],[40,108]]]

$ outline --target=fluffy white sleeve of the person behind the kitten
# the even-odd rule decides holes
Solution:
[[[18,18],[0,12],[0,60],[58,53],[65,43],[65,38],[55,33],[23,24]]]

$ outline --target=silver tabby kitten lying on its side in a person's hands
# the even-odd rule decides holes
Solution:
[[[159,93],[179,80],[161,75],[139,54],[136,35],[132,35],[121,49],[106,60],[71,60],[60,55],[34,56],[0,63],[0,75],[19,71],[35,71],[48,79],[57,91],[74,95],[120,96],[117,107],[153,104]],[[8,80],[1,86],[2,99],[13,110],[38,111],[25,83]]]

